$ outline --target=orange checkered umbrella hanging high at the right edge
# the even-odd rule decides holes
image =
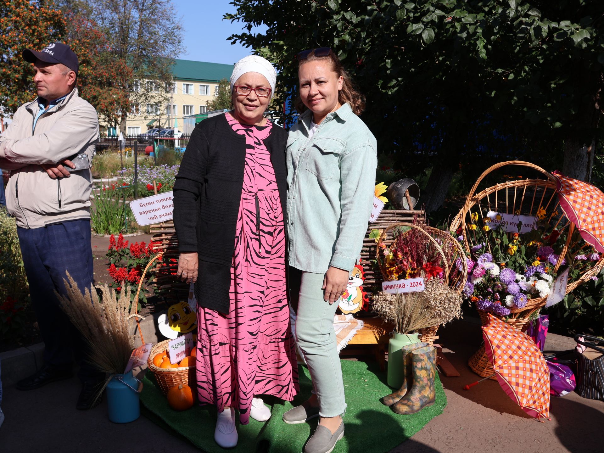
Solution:
[[[581,237],[604,253],[604,193],[594,185],[553,172],[560,207]]]

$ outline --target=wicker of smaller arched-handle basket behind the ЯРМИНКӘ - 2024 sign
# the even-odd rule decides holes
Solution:
[[[410,228],[410,230],[400,233],[400,229],[405,227]],[[448,284],[449,288],[453,289],[455,292],[457,292],[457,294],[461,294],[467,279],[466,260],[460,260],[461,269],[458,269],[457,266],[454,266],[454,263],[458,257],[463,257],[465,255],[463,248],[461,248],[461,245],[457,239],[451,236],[451,234],[449,234],[447,231],[439,230],[438,228],[428,225],[419,226],[414,225],[413,223],[399,222],[392,223],[385,228],[379,237],[379,240],[377,240],[376,246],[377,265],[379,266],[384,281],[388,281],[390,278],[387,275],[384,257],[381,254],[381,245],[384,244],[386,246],[391,246],[394,239],[396,239],[399,234],[408,234],[411,229],[422,232],[432,242],[437,252],[439,252],[440,256],[442,257],[444,266],[443,274],[446,283]],[[428,342],[430,345],[434,344],[434,340],[439,338],[436,335],[438,328],[439,326],[431,326],[426,327],[425,329],[420,329],[419,333],[422,335],[422,341]]]

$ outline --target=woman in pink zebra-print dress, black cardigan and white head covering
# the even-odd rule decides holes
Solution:
[[[235,413],[271,416],[259,397],[292,400],[298,376],[285,286],[287,133],[263,117],[275,69],[258,56],[231,76],[233,110],[199,123],[174,185],[177,275],[195,281],[197,391],[218,409],[214,439],[237,444]]]

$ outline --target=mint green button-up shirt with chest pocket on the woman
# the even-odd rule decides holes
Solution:
[[[377,144],[349,104],[330,113],[309,138],[312,112],[289,132],[289,265],[321,274],[352,271],[361,254],[373,195]]]

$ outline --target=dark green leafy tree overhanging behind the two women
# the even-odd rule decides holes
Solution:
[[[234,0],[230,37],[295,89],[295,56],[331,47],[367,96],[362,119],[403,172],[431,168],[427,210],[458,169],[505,157],[589,178],[602,141],[603,11],[598,0]],[[265,33],[251,33],[265,24]],[[281,109],[289,89],[275,95]],[[490,162],[489,162],[490,161]]]

